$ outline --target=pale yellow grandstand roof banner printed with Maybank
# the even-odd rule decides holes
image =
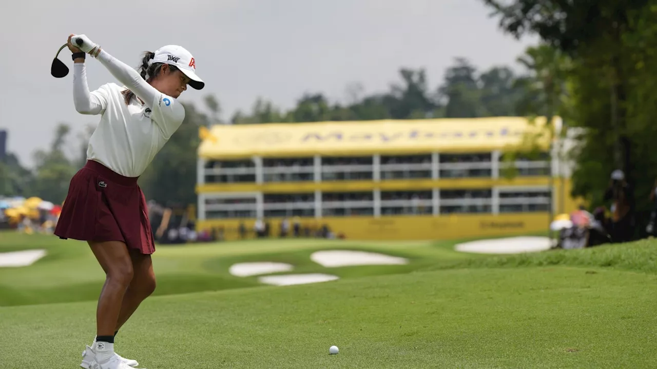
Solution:
[[[487,152],[530,144],[546,148],[544,128],[545,118],[530,123],[520,117],[215,125],[200,132],[198,155],[219,159]]]

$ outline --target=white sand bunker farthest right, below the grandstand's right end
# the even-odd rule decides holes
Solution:
[[[474,253],[525,253],[549,250],[551,245],[547,237],[512,237],[466,242],[455,249]]]

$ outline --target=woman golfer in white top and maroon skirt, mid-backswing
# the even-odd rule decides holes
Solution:
[[[114,336],[155,289],[150,259],[155,246],[137,178],[183,123],[185,108],[176,98],[187,85],[202,89],[204,82],[196,76],[192,54],[177,45],[145,53],[141,75],[85,35],[70,35],[68,48],[73,52],[76,110],[100,114],[101,121],[89,139],[85,167],[71,180],[55,234],[87,241],[106,274],[97,336],[82,353],[80,366],[128,369],[137,361],[114,353]],[[99,60],[123,86],[107,83],[90,93],[85,54]]]

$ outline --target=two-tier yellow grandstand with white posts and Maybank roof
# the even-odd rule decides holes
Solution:
[[[261,219],[276,236],[283,219],[298,219],[310,232],[327,226],[352,240],[547,230],[550,204],[555,213],[576,207],[570,167],[547,127],[559,131],[560,119],[215,125],[198,148],[197,228],[235,239],[240,225],[251,230]],[[543,157],[502,160],[530,146]],[[503,175],[507,165],[514,177]]]

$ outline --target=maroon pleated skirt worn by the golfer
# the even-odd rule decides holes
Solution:
[[[146,198],[137,179],[87,160],[71,179],[55,235],[64,240],[121,241],[129,249],[154,253]]]

